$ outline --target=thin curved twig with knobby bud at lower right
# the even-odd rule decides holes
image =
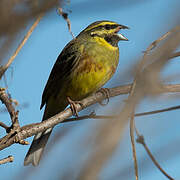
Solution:
[[[144,141],[144,136],[140,135],[140,133],[138,132],[138,130],[135,128],[136,130],[136,134],[137,134],[137,139],[136,142],[140,143],[143,145],[144,149],[146,150],[146,152],[148,153],[149,157],[151,158],[152,162],[155,164],[155,166],[170,180],[174,180],[174,178],[172,178],[170,175],[168,175],[163,169],[162,167],[159,165],[159,163],[156,161],[156,159],[154,158],[154,156],[151,154],[151,151],[149,150],[149,148],[147,147],[145,141]]]

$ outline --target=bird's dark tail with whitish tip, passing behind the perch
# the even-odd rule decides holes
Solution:
[[[43,120],[46,120],[46,119],[54,116],[58,112],[63,111],[65,109],[66,105],[63,105],[63,106],[61,105],[61,107],[58,108],[58,110],[56,110],[56,111],[54,109],[53,109],[53,111],[49,110],[48,107],[50,107],[50,106],[46,105]],[[57,107],[57,106],[55,106],[55,107]],[[35,135],[33,142],[29,148],[29,151],[27,152],[26,157],[24,159],[25,166],[27,166],[31,163],[33,166],[37,166],[39,164],[41,156],[44,151],[44,148],[47,144],[48,138],[51,135],[52,129],[53,128],[49,128],[49,129],[45,130],[44,132],[41,132],[41,133],[38,133]]]

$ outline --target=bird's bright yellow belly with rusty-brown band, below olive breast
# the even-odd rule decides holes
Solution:
[[[91,59],[81,62],[81,66],[73,73],[66,96],[73,100],[81,100],[101,88],[114,74],[116,64],[94,63]]]

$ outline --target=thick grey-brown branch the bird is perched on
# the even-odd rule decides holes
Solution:
[[[110,97],[122,95],[122,94],[128,94],[131,90],[131,84],[129,85],[124,85],[124,86],[119,86],[115,88],[110,88]],[[167,92],[180,92],[180,84],[175,84],[175,85],[165,85],[162,87],[162,92],[161,93],[167,93]],[[91,95],[85,99],[83,99],[81,102],[83,103],[84,107],[81,107],[80,105],[77,105],[77,110],[78,112],[81,111],[82,109],[95,104],[96,102],[102,101],[105,99],[104,94],[101,92],[97,92],[97,95]],[[59,114],[53,116],[52,118],[43,121],[41,123],[34,123],[34,124],[29,124],[26,126],[21,127],[20,132],[17,133],[19,140],[25,139],[27,137],[31,137],[39,132],[42,132],[50,127],[54,127],[55,125],[63,122],[65,119],[69,118],[72,116],[71,109],[68,108],[63,112],[60,112]],[[6,143],[5,143],[6,142]],[[0,139],[0,150],[7,148],[8,146],[12,145],[15,143],[15,137],[10,134],[7,136],[3,137]]]

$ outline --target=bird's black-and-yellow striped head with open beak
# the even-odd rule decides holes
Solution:
[[[120,40],[128,39],[119,33],[121,29],[129,29],[127,26],[113,21],[96,21],[84,29],[78,36],[88,35],[91,37],[103,38],[112,46],[117,46]]]

